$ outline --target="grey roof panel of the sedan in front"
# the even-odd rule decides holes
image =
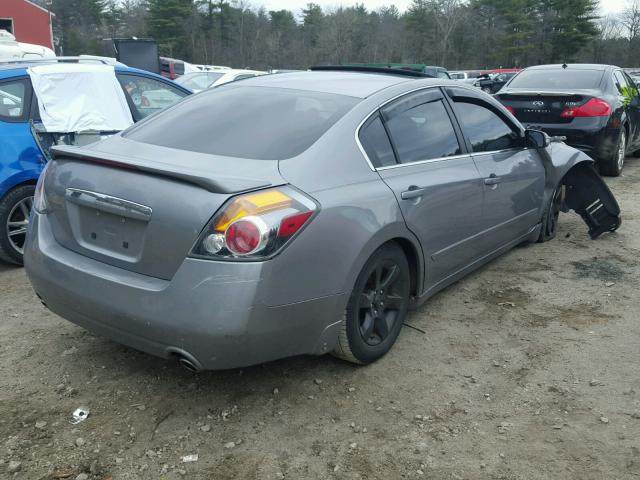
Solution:
[[[320,93],[333,93],[356,98],[367,98],[394,85],[415,81],[415,78],[389,73],[363,73],[348,71],[291,72],[262,75],[242,81],[244,86],[290,88]],[[421,82],[442,84],[440,78],[420,79]],[[428,83],[425,83],[427,85]],[[453,83],[452,83],[453,84]]]

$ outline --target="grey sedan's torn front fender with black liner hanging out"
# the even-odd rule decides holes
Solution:
[[[586,153],[554,141],[540,151],[545,171],[547,195],[564,186],[562,210],[574,210],[589,227],[589,236],[598,238],[620,227],[620,206]]]

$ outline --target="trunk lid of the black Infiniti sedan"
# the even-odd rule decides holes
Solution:
[[[536,126],[571,123],[573,118],[562,116],[562,112],[567,108],[584,105],[596,95],[597,92],[591,90],[503,90],[496,97],[503,105],[509,108],[521,123],[527,126]]]

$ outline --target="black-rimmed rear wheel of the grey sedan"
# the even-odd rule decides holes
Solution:
[[[393,346],[407,316],[409,263],[395,243],[380,247],[358,275],[333,354],[366,365]]]

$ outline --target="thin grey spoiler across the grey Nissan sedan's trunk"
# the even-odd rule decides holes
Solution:
[[[124,155],[112,155],[104,152],[92,152],[87,149],[67,145],[56,145],[51,148],[54,159],[73,159],[85,162],[98,163],[109,167],[135,170],[150,173],[161,177],[172,178],[184,183],[190,183],[212,193],[235,194],[258,188],[269,187],[272,184],[257,178],[233,177],[216,174],[215,178],[204,171],[188,171],[172,168],[167,164],[152,163]]]

